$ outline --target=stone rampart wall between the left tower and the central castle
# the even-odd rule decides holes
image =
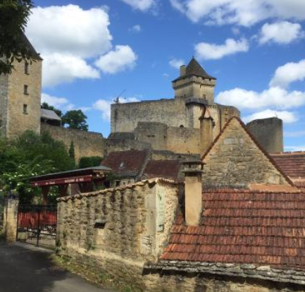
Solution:
[[[71,142],[73,142],[76,161],[78,161],[80,157],[104,157],[105,140],[100,133],[67,129],[51,126],[46,123],[42,123],[41,128],[42,132],[48,132],[55,140],[62,141],[67,149],[69,149]]]

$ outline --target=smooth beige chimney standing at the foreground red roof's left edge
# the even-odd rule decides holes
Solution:
[[[182,162],[185,174],[185,221],[197,226],[202,212],[202,173],[204,163],[200,160]]]

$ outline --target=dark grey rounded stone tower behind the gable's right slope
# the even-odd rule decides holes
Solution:
[[[254,120],[247,123],[247,128],[268,153],[284,151],[282,120],[280,118]]]

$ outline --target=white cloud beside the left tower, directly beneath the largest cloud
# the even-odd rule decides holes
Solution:
[[[71,83],[77,78],[96,79],[99,78],[99,71],[78,56],[58,53],[44,55],[42,83],[45,87]]]

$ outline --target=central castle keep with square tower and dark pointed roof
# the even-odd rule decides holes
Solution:
[[[112,104],[109,138],[128,135],[129,140],[148,143],[154,150],[199,154],[199,117],[203,111],[213,119],[213,138],[232,116],[239,116],[235,107],[214,102],[215,86],[216,78],[193,58],[181,66],[180,76],[173,80],[174,99]]]

